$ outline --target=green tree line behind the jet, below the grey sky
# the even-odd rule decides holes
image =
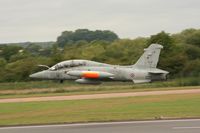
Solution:
[[[150,37],[120,39],[112,31],[79,29],[64,31],[53,45],[0,45],[0,82],[28,81],[28,75],[63,60],[88,59],[117,65],[134,64],[143,49],[152,43],[164,46],[159,68],[170,78],[200,76],[200,30],[186,29],[177,34],[161,31]]]

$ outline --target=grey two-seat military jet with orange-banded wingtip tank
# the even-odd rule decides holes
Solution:
[[[133,83],[146,83],[166,80],[169,72],[156,68],[160,51],[159,44],[151,44],[144,49],[143,55],[134,65],[110,65],[89,60],[67,60],[47,70],[30,75],[31,78],[49,80],[75,80],[81,84],[100,84],[102,81],[131,81]]]

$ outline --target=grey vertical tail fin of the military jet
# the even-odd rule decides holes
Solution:
[[[142,68],[156,68],[162,48],[163,46],[160,44],[151,44],[148,48],[144,49],[143,55],[135,63],[135,66]]]

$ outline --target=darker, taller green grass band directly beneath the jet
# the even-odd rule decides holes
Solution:
[[[200,77],[187,77],[178,78],[169,81],[146,83],[146,84],[133,84],[132,82],[104,82],[101,85],[82,85],[74,81],[65,81],[60,84],[57,81],[29,81],[29,82],[8,82],[0,83],[0,90],[27,90],[27,89],[49,89],[49,88],[101,88],[117,86],[130,86],[132,88],[152,88],[152,87],[177,87],[177,86],[198,86],[200,85]],[[99,87],[100,86],[100,87]]]

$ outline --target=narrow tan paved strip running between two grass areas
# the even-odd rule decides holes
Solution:
[[[72,95],[72,96],[48,96],[48,97],[30,97],[30,98],[10,98],[10,99],[0,99],[0,103],[103,99],[103,98],[116,98],[116,97],[151,96],[151,95],[168,95],[168,94],[193,94],[193,93],[195,94],[200,93],[200,89],[107,93],[107,94],[89,94],[89,95]]]

